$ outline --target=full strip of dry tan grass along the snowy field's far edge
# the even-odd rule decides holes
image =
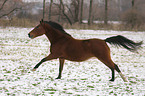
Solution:
[[[18,19],[12,20],[0,19],[0,26],[2,27],[35,27],[39,24],[39,21],[32,21],[30,19]],[[70,25],[68,23],[60,23],[65,29],[92,29],[92,30],[128,30],[128,31],[145,31],[145,24],[140,26],[132,26],[126,24],[79,24],[75,23]]]

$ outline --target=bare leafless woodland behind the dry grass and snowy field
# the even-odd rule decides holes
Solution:
[[[145,0],[1,0],[0,20],[7,20],[10,24],[15,19],[28,25],[29,21],[37,23],[43,18],[70,25],[86,23],[89,26],[96,22],[108,25],[110,21],[121,21],[125,26],[134,28],[145,23],[144,8]]]

